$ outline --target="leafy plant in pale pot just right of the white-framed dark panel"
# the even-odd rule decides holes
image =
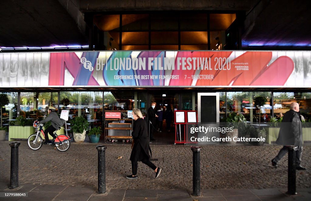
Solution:
[[[236,141],[233,141],[233,137],[239,136],[238,132],[239,123],[246,122],[246,119],[243,116],[243,114],[231,112],[228,114],[226,122],[228,122],[228,127],[233,128],[233,132],[227,132],[227,137],[231,139],[230,141],[228,141],[228,144],[235,144]]]

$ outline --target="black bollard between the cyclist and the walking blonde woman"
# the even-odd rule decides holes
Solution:
[[[97,193],[106,193],[106,172],[105,172],[105,150],[106,146],[96,146],[98,151],[98,191]]]

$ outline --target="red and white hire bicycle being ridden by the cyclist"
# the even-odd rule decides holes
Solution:
[[[36,128],[36,134],[30,135],[28,137],[28,146],[32,150],[38,150],[41,148],[41,146],[43,144],[43,139],[42,139],[40,133],[42,133],[42,135],[44,136],[44,139],[45,139],[44,131],[42,129],[43,124],[39,124],[38,121],[36,120],[33,124],[33,127]],[[58,131],[59,129],[60,128],[58,128],[56,131]],[[56,136],[56,138],[53,139],[52,144],[54,143],[56,148],[59,151],[67,151],[70,147],[69,137],[66,135],[63,135],[63,134],[57,135],[56,131],[53,132],[53,134]]]

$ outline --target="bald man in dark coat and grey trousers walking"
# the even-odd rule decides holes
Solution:
[[[296,151],[296,169],[306,170],[306,168],[300,166],[302,142],[302,125],[299,112],[299,104],[291,103],[290,110],[285,112],[283,116],[279,136],[276,140],[276,144],[283,145],[283,148],[279,151],[278,155],[271,160],[272,165],[277,168],[277,163],[288,152],[286,145],[291,145],[298,147]]]

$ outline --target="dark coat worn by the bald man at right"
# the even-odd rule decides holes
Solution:
[[[302,124],[300,118],[299,112],[294,110],[285,112],[276,144],[302,146]]]

